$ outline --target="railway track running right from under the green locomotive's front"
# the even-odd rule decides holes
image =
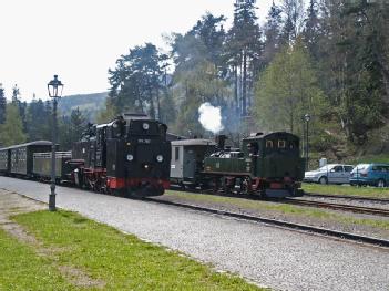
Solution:
[[[350,212],[356,212],[356,214],[366,214],[366,215],[389,217],[389,210],[381,209],[381,208],[354,206],[354,205],[347,205],[347,204],[308,201],[308,200],[300,200],[300,199],[295,199],[295,198],[294,199],[286,198],[283,202],[297,205],[297,206],[310,206],[310,207],[328,208],[328,209],[334,209],[334,210],[350,211]]]

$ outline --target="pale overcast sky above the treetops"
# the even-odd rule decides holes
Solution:
[[[103,92],[108,70],[130,48],[185,33],[209,11],[233,19],[234,0],[0,0],[0,83],[11,97],[48,98],[54,74],[64,95]],[[258,0],[263,22],[272,0]],[[227,27],[228,28],[228,27]],[[166,46],[165,46],[166,48]]]

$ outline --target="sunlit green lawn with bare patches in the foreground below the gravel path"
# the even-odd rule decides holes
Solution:
[[[73,212],[12,219],[38,243],[0,231],[0,290],[263,290]]]

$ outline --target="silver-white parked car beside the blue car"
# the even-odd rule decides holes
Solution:
[[[304,181],[320,184],[348,184],[352,165],[328,164],[305,173]]]

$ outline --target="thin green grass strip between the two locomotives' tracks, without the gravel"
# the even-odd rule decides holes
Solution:
[[[183,199],[186,201],[195,201],[195,202],[205,202],[205,204],[215,204],[215,205],[227,205],[235,208],[244,208],[248,210],[255,210],[260,212],[260,210],[272,210],[278,211],[285,215],[299,216],[299,217],[313,217],[317,219],[324,220],[332,220],[347,225],[361,225],[369,226],[379,229],[389,230],[389,221],[383,221],[379,219],[369,219],[369,218],[356,218],[350,215],[338,215],[332,211],[328,211],[325,209],[317,209],[313,207],[303,207],[303,206],[294,206],[286,204],[277,204],[277,202],[268,202],[260,200],[250,200],[244,198],[236,197],[225,197],[225,196],[215,196],[215,195],[199,195],[199,194],[188,194],[181,191],[166,191],[166,195],[172,197],[177,197],[178,199]]]

